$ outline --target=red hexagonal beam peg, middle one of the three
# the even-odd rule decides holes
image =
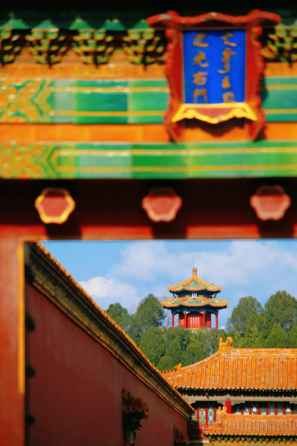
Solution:
[[[142,208],[153,222],[171,222],[182,207],[183,200],[171,188],[155,188],[142,198]]]

